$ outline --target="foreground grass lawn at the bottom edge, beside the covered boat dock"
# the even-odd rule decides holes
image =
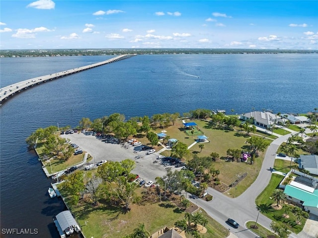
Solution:
[[[124,213],[119,206],[93,207],[90,204],[73,207],[72,211],[86,237],[121,238],[131,234],[140,223],[144,223],[146,230],[154,234],[164,227],[172,228],[177,220],[184,219],[184,212],[170,201],[132,204],[128,213]],[[211,237],[211,234],[215,238],[228,236],[229,232],[221,224],[206,217],[209,221],[208,233],[203,237]]]

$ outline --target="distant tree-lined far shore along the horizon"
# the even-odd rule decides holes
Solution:
[[[318,54],[318,50],[281,49],[41,49],[0,50],[0,57],[56,57],[98,55],[162,55],[162,54]]]

